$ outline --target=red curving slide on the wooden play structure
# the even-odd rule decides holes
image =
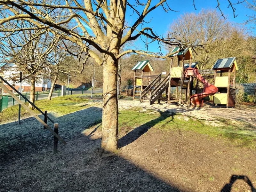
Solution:
[[[208,83],[198,72],[195,68],[187,68],[185,71],[185,77],[188,78],[189,76],[195,76],[201,83],[204,84],[204,89],[202,93],[198,93],[195,95],[192,95],[190,97],[191,104],[193,106],[201,106],[203,107],[204,104],[204,97],[207,97],[209,95],[214,95],[216,92],[218,92],[218,88],[214,85]]]

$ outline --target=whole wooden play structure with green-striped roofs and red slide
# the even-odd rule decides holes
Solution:
[[[235,76],[238,70],[235,57],[218,59],[212,69],[200,70],[198,63],[192,62],[192,59],[195,59],[192,48],[175,47],[171,53],[169,74],[151,75],[154,69],[148,60],[138,62],[132,68],[133,100],[139,100],[140,103],[147,102],[149,105],[156,100],[158,103],[163,100],[168,104],[185,103],[203,106],[204,98],[213,96],[214,105],[235,106]],[[177,67],[173,67],[173,57],[177,57]],[[185,60],[189,60],[189,63],[185,64]],[[136,70],[141,70],[141,76],[136,76]],[[232,77],[231,72],[233,72]],[[208,82],[210,79],[213,80],[212,84]],[[201,89],[198,86],[199,82],[203,84]],[[174,93],[171,92],[173,90]],[[182,97],[183,90],[185,97]]]

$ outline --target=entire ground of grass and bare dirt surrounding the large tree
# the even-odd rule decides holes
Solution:
[[[89,192],[219,192],[239,175],[255,186],[256,128],[252,124],[218,114],[204,119],[156,108],[161,105],[134,107],[131,97],[119,99],[119,149],[109,157],[98,153],[101,94],[94,94],[93,100],[90,94],[81,94],[36,101],[42,111],[54,115],[59,134],[68,143],[60,143],[57,155],[51,155],[52,135],[38,127],[34,118],[25,119],[28,114],[22,110],[24,118],[17,125],[12,121],[17,121],[18,106],[5,109],[0,114],[4,191],[56,191],[64,186],[66,191],[76,187]],[[51,179],[60,181],[59,185]],[[244,181],[236,181],[232,189],[248,191]]]

